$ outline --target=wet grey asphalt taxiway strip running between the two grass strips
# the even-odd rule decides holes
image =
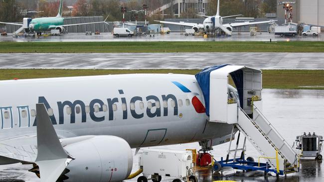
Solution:
[[[323,70],[324,53],[0,54],[1,69],[203,69],[218,64]]]

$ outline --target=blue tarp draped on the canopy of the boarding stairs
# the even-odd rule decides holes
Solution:
[[[223,68],[229,64],[224,65],[215,65],[209,68],[203,69],[201,72],[197,73],[195,75],[197,82],[200,86],[200,89],[203,93],[204,99],[205,99],[205,107],[206,107],[206,114],[209,116],[209,95],[210,95],[210,72]],[[239,94],[240,99],[240,106],[243,108],[243,71],[237,70],[235,72],[232,72],[231,77],[234,81],[234,84],[236,86],[236,89]]]

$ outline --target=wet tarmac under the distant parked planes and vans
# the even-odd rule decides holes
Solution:
[[[324,36],[296,36],[280,37],[279,35],[268,32],[258,32],[251,36],[250,32],[233,32],[232,36],[217,36],[203,38],[202,36],[184,36],[180,32],[170,34],[155,34],[155,36],[134,36],[134,37],[115,37],[112,33],[101,33],[100,35],[85,35],[85,33],[67,33],[61,36],[41,36],[41,37],[12,37],[12,34],[0,36],[0,42],[101,42],[101,41],[324,41]]]

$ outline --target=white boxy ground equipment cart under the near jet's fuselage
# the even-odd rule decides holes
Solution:
[[[175,177],[178,178],[176,182],[187,177],[188,170],[193,167],[191,151],[147,149],[143,151],[139,161],[145,177]]]

